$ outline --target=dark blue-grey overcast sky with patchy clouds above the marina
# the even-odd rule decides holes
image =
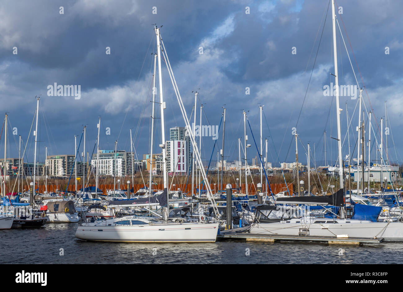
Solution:
[[[338,0],[337,6],[343,12],[337,13],[342,31],[341,35],[337,27],[339,83],[357,87],[353,69],[360,87],[364,81],[363,101],[367,111],[374,111],[372,126],[378,144],[378,124],[380,118],[385,118],[387,101],[389,160],[401,162],[403,2]],[[154,23],[163,26],[162,39],[188,116],[195,90],[200,99],[197,124],[200,101],[204,104],[204,125],[218,125],[225,104],[227,159],[238,157],[238,138],[243,141],[243,110],[260,144],[258,106],[262,104],[263,139],[268,138],[269,162],[295,159],[292,131],[296,126],[300,160],[306,161],[303,147],[310,143],[312,158],[316,156],[318,164],[324,161],[326,130],[326,159],[334,163],[337,141],[330,137],[337,137],[335,97],[324,96],[324,86],[334,83],[332,18],[327,0],[2,1],[0,97],[9,117],[7,157],[18,157],[21,135],[24,143],[28,140],[27,157],[33,159],[33,133],[28,135],[35,114],[35,95],[41,95],[39,161],[44,161],[45,147],[50,155],[73,154],[74,135],[79,135],[78,144],[83,125],[87,125],[86,151],[91,154],[99,116],[102,149],[113,149],[118,139],[118,149],[130,150],[132,129],[138,157],[148,153],[152,53],[156,52]],[[106,54],[106,47],[110,54]],[[169,139],[169,128],[185,123],[166,66],[162,65]],[[81,85],[81,98],[48,96],[48,85],[54,83]],[[250,94],[245,94],[247,87]],[[349,153],[348,144],[353,153],[357,139],[358,99],[352,97],[340,97],[343,157]],[[352,122],[350,143],[344,140],[346,103]],[[156,115],[160,116],[159,110]],[[160,152],[160,119],[155,121],[154,152]],[[15,127],[17,135],[11,135]],[[106,135],[107,127],[110,135]],[[202,138],[202,156],[206,160],[210,159],[215,141],[221,148],[221,130],[217,140]],[[248,125],[247,132],[251,158],[256,155],[256,147]],[[371,140],[374,141],[374,133]],[[1,143],[4,145],[4,133]],[[80,148],[81,152],[82,144]],[[376,153],[374,146],[371,159],[376,158]],[[355,149],[352,156],[356,155]]]

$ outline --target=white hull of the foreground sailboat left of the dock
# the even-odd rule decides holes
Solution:
[[[154,223],[79,226],[76,237],[111,242],[215,242],[218,223]]]

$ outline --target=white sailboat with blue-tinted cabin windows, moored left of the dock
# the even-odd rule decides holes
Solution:
[[[162,68],[161,54],[164,54],[168,73],[174,86],[174,92],[177,96],[182,116],[185,120],[187,128],[190,127],[189,119],[187,118],[185,108],[182,103],[176,81],[173,76],[172,68],[164,47],[164,43],[160,36],[160,29],[155,27],[157,37],[157,59],[158,59],[158,79],[159,79],[159,94],[160,94],[160,112],[161,112],[161,135],[163,156],[163,183],[164,192],[159,196],[160,205],[164,208],[163,220],[151,219],[147,217],[139,217],[134,215],[114,218],[110,220],[102,220],[96,222],[82,222],[76,232],[76,237],[90,241],[110,241],[110,242],[215,242],[219,231],[219,222],[170,222],[169,214],[169,196],[168,196],[168,178],[166,172],[166,149],[165,149],[165,129],[164,129],[164,109],[166,107],[163,99],[162,88]],[[161,47],[162,46],[162,47]],[[155,58],[154,58],[155,60]],[[206,173],[202,164],[199,149],[195,143],[194,133],[189,131],[190,140],[193,145],[195,159],[200,166],[200,173],[203,179],[206,179]],[[210,186],[207,184],[207,197],[214,202]],[[166,200],[166,201],[165,201]],[[212,204],[216,214],[217,207]]]

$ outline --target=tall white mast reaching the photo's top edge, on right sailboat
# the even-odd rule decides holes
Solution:
[[[332,0],[332,19],[333,19],[333,50],[334,50],[334,75],[336,75],[336,112],[337,112],[337,142],[339,146],[339,177],[340,177],[340,188],[344,188],[343,181],[343,161],[341,157],[341,125],[340,125],[340,101],[339,101],[339,71],[337,68],[337,44],[336,44],[336,14],[334,12],[334,0]],[[343,215],[344,217],[344,215]]]

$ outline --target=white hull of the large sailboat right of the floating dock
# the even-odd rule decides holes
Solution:
[[[318,219],[319,220],[319,219]],[[294,221],[294,220],[293,220]],[[337,220],[336,220],[337,221]],[[347,234],[358,238],[384,238],[385,241],[403,241],[403,222],[364,222],[346,220],[351,223],[296,224],[286,223],[255,223],[250,233],[268,235],[299,236],[300,229],[309,229],[310,236],[337,236]]]

